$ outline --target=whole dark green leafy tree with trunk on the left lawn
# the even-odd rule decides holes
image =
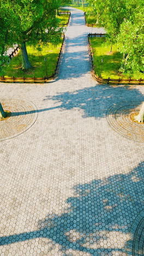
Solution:
[[[16,20],[16,27],[11,24],[10,29],[15,33],[14,43],[20,45],[22,69],[29,69],[32,65],[28,60],[27,42],[32,45],[41,42],[57,43],[61,38],[61,28],[58,28],[56,18],[59,1],[2,0],[2,4],[8,10],[9,16],[12,13]]]

